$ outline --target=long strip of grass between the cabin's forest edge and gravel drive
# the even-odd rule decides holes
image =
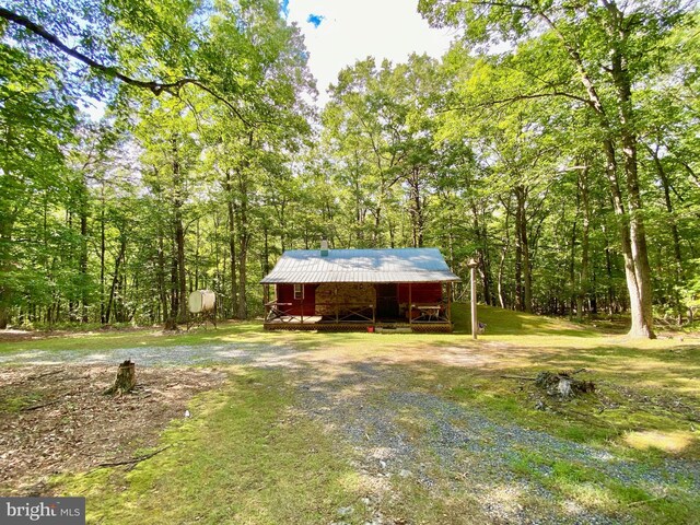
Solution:
[[[397,347],[472,346],[480,342],[517,343],[520,347],[544,347],[565,349],[592,349],[606,343],[612,349],[656,349],[669,347],[667,340],[630,341],[625,336],[606,335],[592,326],[561,318],[528,315],[479,305],[479,320],[486,323],[486,334],[474,342],[470,337],[469,310],[467,304],[453,306],[453,334],[332,334],[265,331],[260,320],[223,322],[218,329],[197,329],[190,332],[163,334],[155,328],[80,331],[69,335],[48,336],[37,332],[37,338],[20,341],[0,341],[0,352],[23,350],[94,350],[116,348],[168,347],[178,345],[226,343],[234,341],[264,342],[269,345],[294,345],[304,350],[330,347],[334,350],[393,351]]]

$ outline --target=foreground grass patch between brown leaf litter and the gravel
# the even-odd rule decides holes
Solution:
[[[55,479],[85,495],[89,523],[329,523],[352,506],[362,520],[361,483],[322,429],[289,410],[277,372],[232,374],[200,396],[192,419],[174,422],[133,470],[101,468]]]

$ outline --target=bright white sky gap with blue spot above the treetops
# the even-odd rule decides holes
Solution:
[[[308,68],[316,77],[318,104],[338,72],[368,56],[377,63],[404,62],[411,52],[439,58],[454,32],[433,30],[417,12],[418,0],[282,0],[282,12],[304,34]]]

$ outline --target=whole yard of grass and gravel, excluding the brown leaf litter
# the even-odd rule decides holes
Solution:
[[[140,348],[247,349],[207,364],[226,380],[192,394],[191,417],[120,444],[155,455],[45,480],[85,495],[89,523],[698,523],[699,339],[482,307],[474,341],[466,315],[452,335],[229,323],[4,341],[0,357],[11,369],[12,355],[128,348],[138,366]],[[595,392],[549,395],[530,381],[541,371],[579,371]],[[35,389],[0,399],[3,420],[39,402]]]

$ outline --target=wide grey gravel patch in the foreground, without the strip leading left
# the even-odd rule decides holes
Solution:
[[[408,390],[397,366],[361,363],[352,371],[301,385],[303,410],[340,431],[354,447],[364,474],[397,483],[415,478],[429,490],[444,490],[444,479],[450,479],[448,490],[466,491],[497,523],[629,523],[627,516],[591,512],[574,501],[552,503],[558,497],[513,467],[532,455],[597,470],[655,497],[679,483],[688,491],[700,491],[700,462],[669,458],[650,467],[545,432],[493,421],[435,394]],[[409,432],[405,421],[420,430]],[[552,474],[548,465],[535,468],[544,477]],[[436,486],[436,478],[443,480],[442,487]],[[517,503],[521,495],[549,503],[552,512],[528,511]]]

